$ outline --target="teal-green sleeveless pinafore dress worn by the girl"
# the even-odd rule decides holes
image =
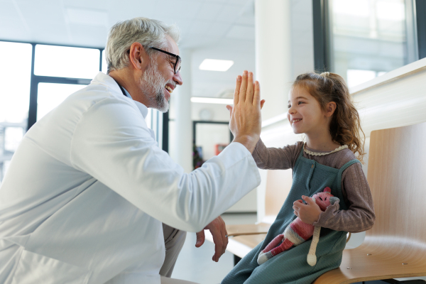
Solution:
[[[350,160],[342,168],[332,168],[303,157],[303,148],[293,168],[293,185],[283,207],[266,235],[266,239],[250,251],[222,280],[222,284],[308,284],[323,273],[338,268],[342,262],[342,253],[346,245],[346,231],[334,231],[321,228],[320,241],[317,245],[317,264],[307,264],[307,253],[312,239],[266,261],[261,266],[257,263],[258,254],[265,249],[275,236],[283,234],[284,229],[295,218],[293,202],[302,195],[315,195],[325,187],[332,189],[332,195],[339,197],[341,210],[348,209],[342,195],[342,173],[359,160]]]

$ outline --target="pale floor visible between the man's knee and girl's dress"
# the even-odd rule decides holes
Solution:
[[[223,214],[222,219],[226,224],[254,224],[256,213]],[[212,261],[214,244],[206,241],[200,248],[196,248],[195,241],[195,233],[188,233],[172,278],[201,284],[221,283],[226,274],[234,267],[234,255],[226,251],[216,263]]]

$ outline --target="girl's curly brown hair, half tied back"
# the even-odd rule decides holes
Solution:
[[[362,163],[366,154],[364,152],[366,136],[361,129],[358,111],[354,107],[344,79],[335,73],[309,72],[297,76],[293,87],[304,87],[317,99],[324,111],[329,102],[336,103],[336,110],[329,125],[332,140],[339,145],[347,145],[354,154],[358,153],[356,158]]]

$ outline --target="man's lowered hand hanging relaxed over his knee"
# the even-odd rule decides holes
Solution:
[[[228,246],[228,233],[226,232],[225,222],[219,216],[208,224],[204,230],[210,230],[210,233],[212,233],[214,242],[214,256],[212,260],[217,262],[222,254],[225,253],[226,246]],[[204,244],[204,230],[197,233],[197,243],[195,244],[197,248]]]

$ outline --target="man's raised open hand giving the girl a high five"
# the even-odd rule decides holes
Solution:
[[[231,113],[229,129],[234,142],[239,142],[253,153],[261,135],[261,89],[259,83],[253,83],[253,73],[243,72],[236,78],[234,107],[226,106]]]

